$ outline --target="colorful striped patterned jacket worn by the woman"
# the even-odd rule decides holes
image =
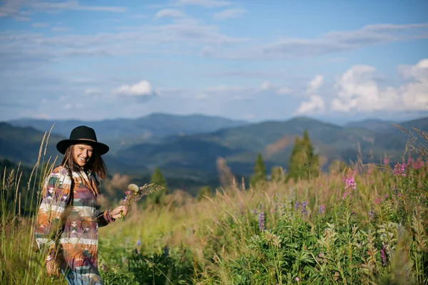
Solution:
[[[65,167],[58,166],[46,177],[34,229],[36,243],[40,249],[48,247],[46,262],[56,260],[61,269],[102,281],[98,227],[113,219],[108,211],[100,212],[96,204],[100,187],[96,175],[82,170],[71,172],[71,176]]]

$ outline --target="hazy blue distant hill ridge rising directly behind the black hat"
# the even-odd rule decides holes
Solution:
[[[168,135],[210,133],[223,128],[232,128],[247,124],[241,120],[208,115],[169,115],[153,113],[136,119],[111,120],[42,120],[24,118],[7,122],[18,127],[33,127],[36,130],[50,130],[53,133],[68,138],[70,131],[78,125],[88,125],[94,128],[98,140],[120,147],[136,142],[156,140]],[[114,148],[114,147],[113,147]]]

